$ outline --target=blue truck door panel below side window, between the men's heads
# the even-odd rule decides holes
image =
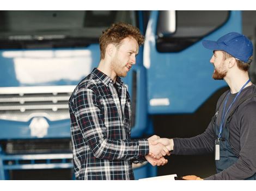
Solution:
[[[157,13],[153,11],[149,19],[150,33],[146,34],[144,48],[148,111],[150,114],[192,113],[225,83],[212,80],[214,67],[209,62],[212,53],[202,46],[203,39],[178,53],[157,52]],[[204,38],[216,40],[230,31],[241,32],[240,11],[231,11],[229,20]]]

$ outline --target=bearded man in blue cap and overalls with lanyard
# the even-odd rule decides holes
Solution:
[[[213,50],[215,80],[225,80],[230,90],[218,99],[215,116],[201,135],[192,138],[160,138],[172,154],[197,155],[215,152],[217,174],[204,180],[256,180],[256,87],[249,79],[253,44],[239,33],[217,41],[203,41]],[[184,176],[186,180],[203,180]]]

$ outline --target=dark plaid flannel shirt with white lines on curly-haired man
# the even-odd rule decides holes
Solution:
[[[69,99],[75,176],[78,180],[133,180],[132,162],[144,162],[147,139],[131,139],[131,102],[94,68]]]

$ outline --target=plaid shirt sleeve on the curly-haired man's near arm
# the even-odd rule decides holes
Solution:
[[[75,116],[83,138],[96,158],[131,160],[149,153],[147,139],[109,139],[99,100],[93,90],[80,88],[74,98]],[[82,141],[82,140],[81,140]]]

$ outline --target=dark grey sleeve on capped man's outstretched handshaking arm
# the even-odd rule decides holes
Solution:
[[[215,132],[214,118],[208,128],[202,134],[191,138],[174,138],[174,155],[200,155],[209,152],[214,152]]]

